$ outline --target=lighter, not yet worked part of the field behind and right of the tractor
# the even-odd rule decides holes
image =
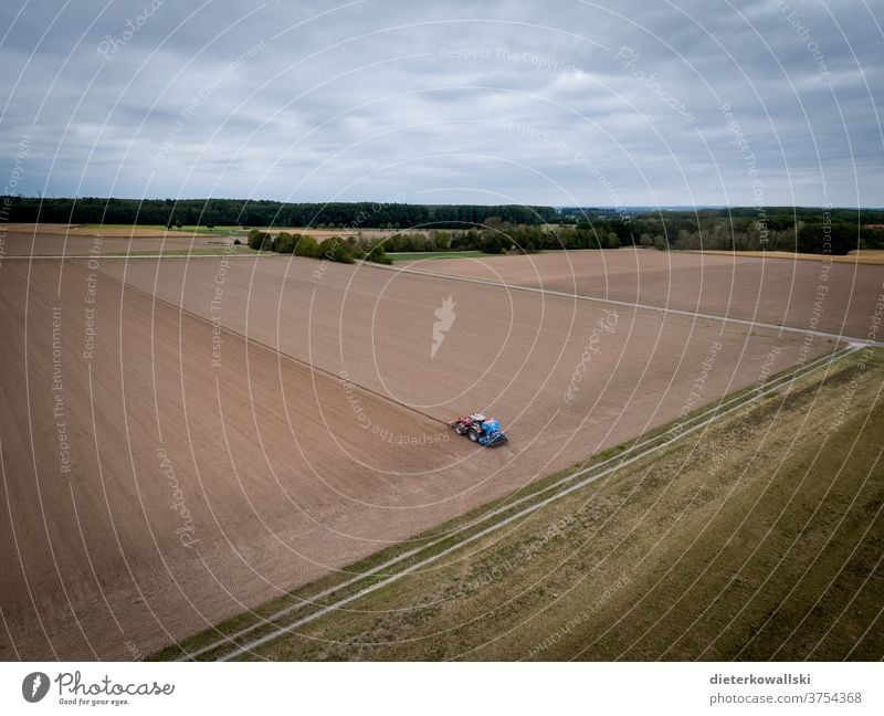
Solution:
[[[518,460],[502,472],[526,478],[754,382],[771,349],[779,352],[768,368],[782,370],[803,343],[749,336],[747,327],[720,322],[309,259],[108,260],[101,270],[429,417],[496,415],[512,439],[505,451]],[[449,297],[455,319],[433,355],[436,312]],[[808,356],[833,347],[818,338]]]

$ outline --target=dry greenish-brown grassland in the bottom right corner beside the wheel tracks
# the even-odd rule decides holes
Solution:
[[[883,389],[854,352],[249,657],[878,661]]]

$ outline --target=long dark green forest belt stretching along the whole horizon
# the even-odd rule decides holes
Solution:
[[[884,249],[884,210],[881,209],[736,207],[673,211],[516,204],[33,197],[4,198],[6,207],[9,208],[7,220],[15,222],[254,227],[270,232],[274,227],[356,232],[391,229],[396,233],[383,242],[388,252],[477,250],[501,253],[653,246],[660,250],[844,254],[854,249]],[[375,248],[375,243],[361,239],[350,244],[350,253],[369,252]]]

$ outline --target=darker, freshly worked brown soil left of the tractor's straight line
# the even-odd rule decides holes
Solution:
[[[463,445],[436,422],[230,334],[212,366],[210,323],[59,267],[0,268],[2,659],[146,655],[459,514],[491,470],[446,468]]]

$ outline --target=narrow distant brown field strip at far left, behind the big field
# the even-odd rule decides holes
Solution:
[[[223,251],[227,241],[221,236],[168,232],[164,238],[138,235],[27,233],[10,231],[3,251],[10,256],[88,256],[140,252],[218,249]]]

